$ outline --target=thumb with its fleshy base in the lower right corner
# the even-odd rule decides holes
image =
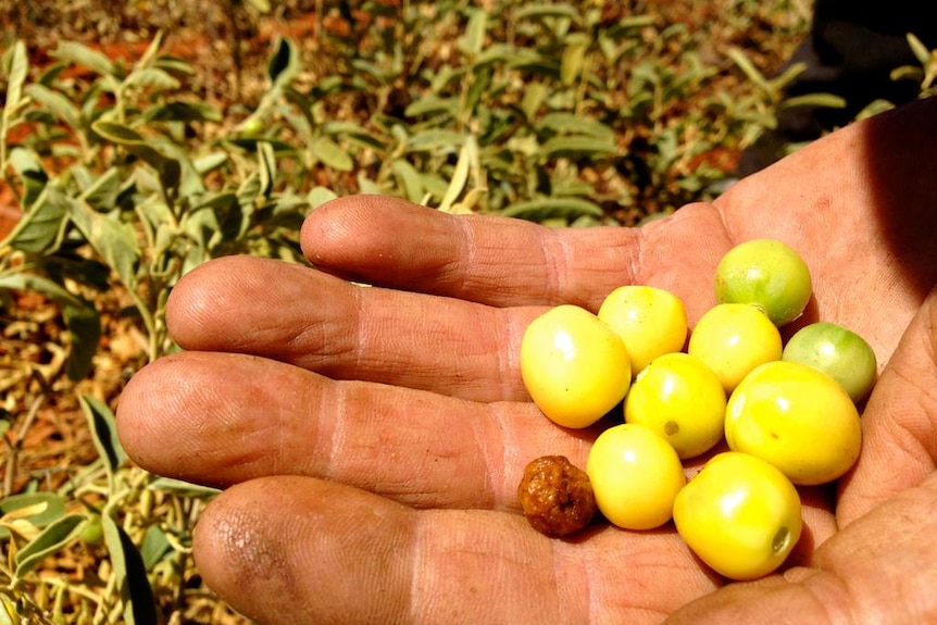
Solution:
[[[908,326],[863,414],[841,480],[839,530],[807,566],[700,599],[672,623],[923,623],[937,614],[937,289]],[[902,597],[896,601],[895,597]],[[791,609],[796,607],[796,609]]]

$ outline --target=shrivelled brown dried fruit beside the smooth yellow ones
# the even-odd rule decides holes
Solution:
[[[596,514],[589,476],[564,455],[544,455],[527,464],[517,497],[524,516],[547,536],[579,532]]]

